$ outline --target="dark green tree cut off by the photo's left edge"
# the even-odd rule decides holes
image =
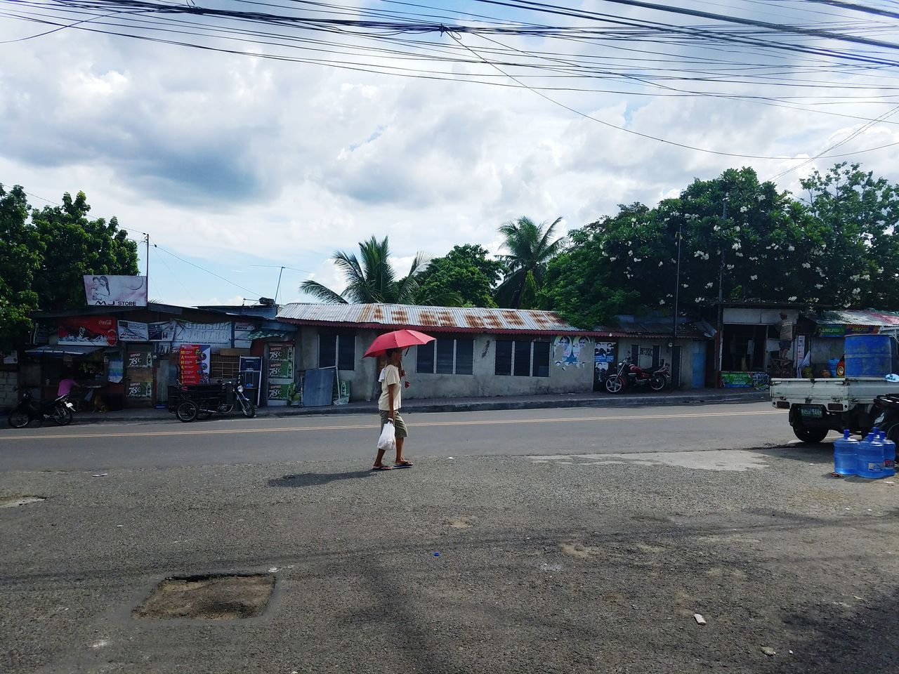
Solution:
[[[0,350],[12,350],[31,330],[29,315],[38,308],[31,284],[42,253],[22,187],[4,191],[0,185]]]

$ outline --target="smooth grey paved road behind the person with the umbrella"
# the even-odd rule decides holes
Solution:
[[[664,452],[778,446],[793,439],[770,404],[420,413],[410,457]],[[0,431],[0,471],[265,464],[373,457],[372,415],[84,425]]]

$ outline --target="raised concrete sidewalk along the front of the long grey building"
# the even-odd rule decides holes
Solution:
[[[659,394],[611,395],[607,393],[559,395],[508,395],[489,398],[417,398],[407,400],[404,412],[481,412],[489,410],[530,410],[560,407],[649,407],[658,405],[753,403],[770,400],[767,391],[752,389],[703,388],[690,391],[666,391]],[[260,407],[258,416],[292,417],[310,414],[365,414],[378,411],[377,401],[360,401],[327,407]],[[228,416],[239,416],[232,412]],[[174,420],[167,410],[121,410],[119,412],[77,412],[78,423],[104,421]]]

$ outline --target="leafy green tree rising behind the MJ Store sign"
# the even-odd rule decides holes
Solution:
[[[46,206],[31,213],[43,253],[33,290],[41,309],[85,306],[85,275],[138,274],[138,244],[129,240],[112,217],[89,220],[85,193],[73,200],[63,194],[62,206]]]

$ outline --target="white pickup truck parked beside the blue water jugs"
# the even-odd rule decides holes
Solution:
[[[868,433],[880,410],[878,395],[899,393],[883,377],[772,379],[771,404],[789,410],[789,423],[803,442],[821,442],[830,430]]]

